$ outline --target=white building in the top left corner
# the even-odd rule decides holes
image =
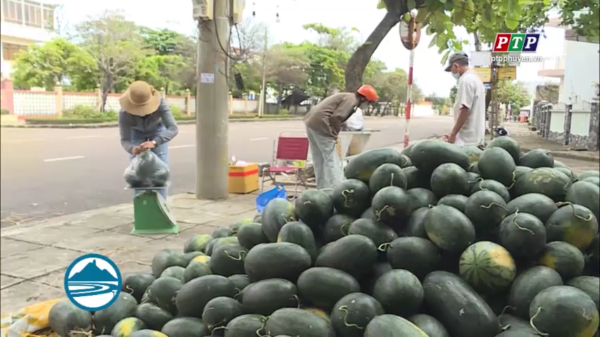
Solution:
[[[30,0],[1,0],[0,4],[0,71],[9,77],[11,61],[19,51],[55,36],[55,6]]]

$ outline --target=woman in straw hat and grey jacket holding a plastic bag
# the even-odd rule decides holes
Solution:
[[[119,133],[121,145],[131,154],[130,159],[143,150],[152,150],[169,164],[167,143],[179,132],[171,108],[156,89],[145,81],[135,81],[119,98]],[[160,190],[167,198],[167,190]]]

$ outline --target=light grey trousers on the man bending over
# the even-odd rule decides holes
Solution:
[[[322,136],[311,128],[306,128],[308,145],[311,147],[317,188],[333,188],[344,180],[344,165],[341,161],[341,147],[333,138]]]

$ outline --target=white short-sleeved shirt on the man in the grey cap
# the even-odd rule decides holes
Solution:
[[[467,70],[458,79],[454,103],[454,121],[458,119],[460,108],[469,109],[469,117],[456,136],[456,145],[476,146],[485,138],[485,88],[473,70]]]

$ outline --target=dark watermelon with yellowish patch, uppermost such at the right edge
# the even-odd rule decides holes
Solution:
[[[598,232],[598,221],[584,206],[566,204],[557,209],[546,223],[548,241],[563,241],[585,251]]]

